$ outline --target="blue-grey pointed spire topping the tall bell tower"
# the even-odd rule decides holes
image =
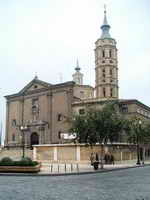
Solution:
[[[106,5],[104,5],[104,20],[103,20],[103,25],[101,26],[101,29],[102,29],[101,39],[111,38],[110,33],[109,33],[109,29],[111,27],[108,24],[106,13],[107,13],[106,12]]]

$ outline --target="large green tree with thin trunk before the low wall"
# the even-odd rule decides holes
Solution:
[[[84,115],[75,115],[71,131],[77,134],[79,143],[101,144],[101,168],[104,145],[118,141],[124,127],[124,119],[118,111],[118,103],[107,103],[102,109],[87,108]]]

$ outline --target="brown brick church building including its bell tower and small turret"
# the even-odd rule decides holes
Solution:
[[[106,10],[101,37],[95,42],[95,87],[83,84],[79,63],[73,81],[50,84],[36,76],[16,94],[6,98],[5,146],[61,143],[73,113],[84,114],[87,105],[103,106],[118,100],[120,111],[150,120],[150,108],[136,99],[119,99],[116,41],[109,33]]]

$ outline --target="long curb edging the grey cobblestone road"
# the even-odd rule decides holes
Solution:
[[[148,167],[150,164],[145,164],[145,165],[135,165],[135,166],[130,166],[130,167],[118,167],[118,168],[111,168],[111,169],[102,169],[102,170],[97,170],[97,171],[84,171],[84,172],[70,172],[70,173],[0,173],[0,176],[32,176],[32,177],[39,177],[39,176],[72,176],[72,175],[87,175],[87,174],[98,174],[98,173],[107,173],[107,172],[112,172],[112,171],[121,171],[121,170],[126,170],[126,169],[133,169],[133,168],[141,168],[141,167]]]

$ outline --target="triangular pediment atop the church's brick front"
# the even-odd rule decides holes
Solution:
[[[20,92],[22,93],[28,93],[36,90],[42,90],[42,89],[48,89],[50,88],[51,84],[41,81],[39,79],[33,79],[30,83],[28,83]]]

